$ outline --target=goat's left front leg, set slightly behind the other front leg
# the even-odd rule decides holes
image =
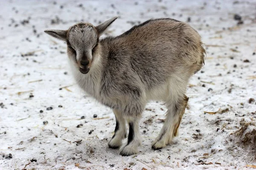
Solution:
[[[117,149],[122,145],[122,139],[126,137],[126,126],[125,119],[122,116],[122,112],[113,109],[113,112],[116,116],[116,128],[115,134],[112,136],[112,139],[108,142],[108,146],[112,149]]]

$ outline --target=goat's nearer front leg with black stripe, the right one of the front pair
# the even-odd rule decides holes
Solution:
[[[129,134],[127,143],[120,148],[122,156],[129,156],[138,153],[138,147],[141,144],[139,122],[140,117],[130,117],[127,119],[129,125]]]

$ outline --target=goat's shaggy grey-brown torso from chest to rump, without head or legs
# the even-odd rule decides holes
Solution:
[[[176,88],[170,82],[186,85],[204,63],[199,34],[172,19],[149,20],[120,36],[102,39],[100,44],[97,68],[86,75],[77,71],[76,77],[84,91],[116,109],[141,97],[165,101],[169,88]],[[126,114],[135,113],[128,109]]]

